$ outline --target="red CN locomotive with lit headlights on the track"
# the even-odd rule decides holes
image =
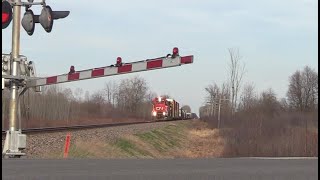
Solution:
[[[155,120],[185,119],[186,112],[179,108],[179,103],[174,99],[156,97],[152,100],[152,117]]]

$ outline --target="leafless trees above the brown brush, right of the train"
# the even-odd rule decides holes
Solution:
[[[318,73],[305,66],[289,77],[287,96],[277,99],[272,88],[258,94],[253,83],[241,88],[245,65],[241,64],[238,49],[229,49],[229,80],[221,86],[215,82],[205,87],[207,93],[205,105],[200,108],[202,118],[216,119],[220,104],[223,116],[230,121],[235,114],[253,111],[274,116],[280,112],[315,112],[318,111]],[[239,95],[240,90],[242,93]],[[239,97],[238,97],[239,96]],[[223,101],[220,101],[223,100]]]

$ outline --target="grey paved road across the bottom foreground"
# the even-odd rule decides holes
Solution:
[[[318,159],[3,159],[2,179],[313,180],[318,179]]]

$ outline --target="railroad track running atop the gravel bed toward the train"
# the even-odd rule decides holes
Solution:
[[[170,121],[184,121],[184,120],[190,120],[190,119],[28,128],[28,129],[22,129],[22,133],[58,132],[58,131],[68,131],[68,130],[93,129],[93,128],[103,128],[103,127],[126,126],[126,125],[134,125],[134,124],[147,124],[147,123],[170,122]],[[4,134],[6,134],[6,131],[2,130],[2,135]]]

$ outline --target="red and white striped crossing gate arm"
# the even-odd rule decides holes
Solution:
[[[170,68],[170,67],[176,67],[176,66],[181,66],[184,64],[191,64],[191,63],[193,63],[192,55],[177,56],[175,58],[161,57],[156,59],[125,63],[120,67],[106,66],[106,67],[76,71],[75,73],[72,73],[72,74],[62,74],[58,76],[29,79],[27,81],[26,86],[27,87],[45,86],[45,85],[80,81],[80,80],[93,79],[93,78],[99,78],[99,77],[105,77],[105,76],[114,76],[114,75],[127,74],[127,73],[133,73],[133,72]]]

